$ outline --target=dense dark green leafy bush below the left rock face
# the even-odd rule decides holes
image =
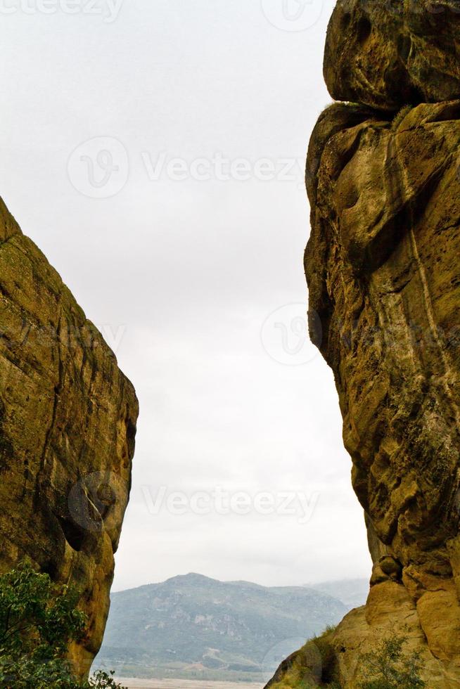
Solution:
[[[89,683],[75,681],[66,655],[87,622],[77,600],[75,589],[56,586],[26,563],[0,576],[1,689],[119,687],[103,672]]]

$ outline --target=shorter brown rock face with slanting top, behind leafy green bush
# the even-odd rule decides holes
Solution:
[[[115,355],[0,202],[0,570],[81,591],[81,676],[101,644],[138,404]]]

